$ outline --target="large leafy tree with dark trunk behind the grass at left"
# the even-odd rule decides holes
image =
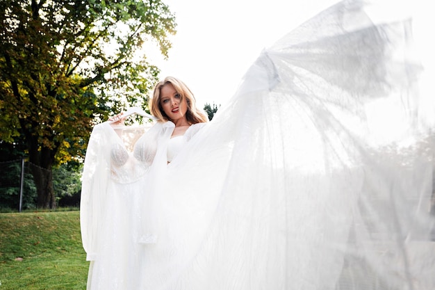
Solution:
[[[83,157],[109,111],[146,108],[158,68],[141,48],[167,57],[174,16],[160,0],[3,0],[0,23],[1,140],[25,144],[38,207],[54,207],[53,166]]]

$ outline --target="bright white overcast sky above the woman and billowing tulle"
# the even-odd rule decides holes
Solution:
[[[435,51],[427,27],[429,9],[413,0],[384,1],[385,15],[416,17],[414,37],[424,42],[420,55]],[[177,34],[171,38],[167,61],[152,56],[161,69],[160,78],[176,76],[194,92],[199,105],[223,105],[236,92],[238,83],[261,51],[270,47],[299,24],[334,5],[334,0],[163,0],[174,13]],[[409,4],[412,3],[412,4]],[[411,5],[411,6],[410,6]],[[384,13],[388,11],[388,13]],[[432,21],[432,27],[435,27]],[[431,27],[429,26],[429,27]],[[433,34],[433,33],[431,33]],[[431,53],[433,54],[433,53]],[[432,65],[433,59],[430,60]]]

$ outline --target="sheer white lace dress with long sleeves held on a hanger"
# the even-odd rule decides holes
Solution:
[[[184,142],[202,126],[192,125]],[[92,130],[81,191],[81,234],[91,261],[88,290],[140,289],[144,250],[157,241],[149,179],[166,166],[173,130],[172,122],[152,127],[104,122]]]

